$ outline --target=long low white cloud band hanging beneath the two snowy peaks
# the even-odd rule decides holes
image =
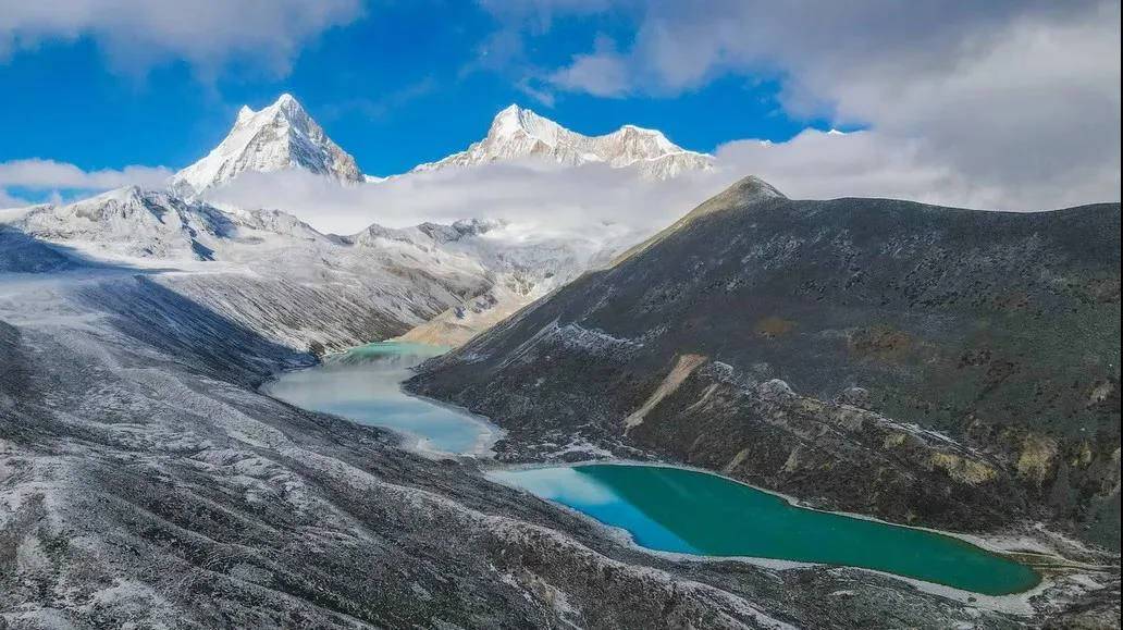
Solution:
[[[220,206],[285,210],[336,234],[354,234],[374,222],[404,227],[490,218],[553,238],[603,230],[605,222],[656,229],[728,183],[714,174],[648,182],[631,171],[599,164],[565,168],[522,163],[347,186],[302,171],[246,173],[208,199]]]

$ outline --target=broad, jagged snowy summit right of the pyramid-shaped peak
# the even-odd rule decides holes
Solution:
[[[545,158],[566,166],[604,163],[613,168],[632,167],[654,180],[667,180],[713,165],[713,156],[686,150],[654,129],[624,125],[604,136],[583,136],[512,104],[495,116],[483,140],[439,162],[421,164],[412,172],[521,158]]]

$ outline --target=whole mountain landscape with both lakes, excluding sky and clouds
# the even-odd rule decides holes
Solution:
[[[520,161],[723,176],[655,130],[512,107],[377,179],[284,95],[167,190],[4,210],[0,620],[1117,619],[1117,203],[749,176],[661,231],[473,209],[334,234],[221,201],[290,171],[436,194]]]

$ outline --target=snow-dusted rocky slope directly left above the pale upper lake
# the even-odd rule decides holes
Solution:
[[[322,235],[284,212],[226,212],[137,188],[34,208],[9,230],[85,259],[174,271],[158,282],[317,353],[400,335],[496,282],[478,259],[416,230]]]

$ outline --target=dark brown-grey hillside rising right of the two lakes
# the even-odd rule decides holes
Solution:
[[[984,531],[1044,519],[1117,548],[1119,204],[757,184],[409,386],[508,428],[509,459],[577,435],[818,505]]]

